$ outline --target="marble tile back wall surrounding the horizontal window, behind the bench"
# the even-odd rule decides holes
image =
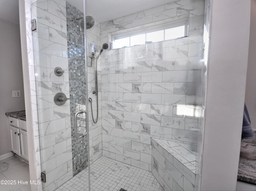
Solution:
[[[108,33],[187,14],[188,37],[101,56],[102,155],[151,170],[150,138],[197,144],[204,0],[178,0],[100,24]]]

